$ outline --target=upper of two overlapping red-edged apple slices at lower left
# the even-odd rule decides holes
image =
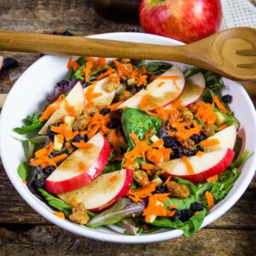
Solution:
[[[47,191],[57,194],[79,189],[91,183],[103,171],[110,153],[106,137],[97,133],[88,143],[92,143],[93,146],[74,151],[46,179]],[[84,170],[81,170],[81,165]]]

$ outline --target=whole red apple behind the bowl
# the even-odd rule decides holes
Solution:
[[[139,18],[144,32],[192,43],[218,32],[219,0],[142,0]]]

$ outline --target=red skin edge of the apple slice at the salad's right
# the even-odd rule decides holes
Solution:
[[[200,172],[194,175],[168,175],[166,173],[166,177],[180,177],[183,179],[187,179],[192,183],[206,182],[208,177],[219,175],[220,173],[224,172],[230,166],[234,157],[235,152],[232,149],[228,148],[227,154],[225,155],[224,159],[218,162],[218,164],[216,164],[215,166],[212,166],[212,168],[209,168],[204,172]]]

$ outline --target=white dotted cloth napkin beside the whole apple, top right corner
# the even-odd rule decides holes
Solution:
[[[256,1],[221,0],[221,4],[223,20],[220,30],[234,26],[256,27]]]

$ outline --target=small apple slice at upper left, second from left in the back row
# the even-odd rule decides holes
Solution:
[[[109,78],[105,78],[96,82],[96,84],[90,85],[84,88],[84,94],[90,87],[94,87],[93,93],[102,93],[102,96],[98,96],[92,100],[94,102],[94,108],[102,108],[109,106],[110,103],[113,101],[113,97],[115,95],[116,90],[108,92],[107,90],[103,89],[103,85],[108,83]],[[85,96],[85,105],[88,103],[88,100]]]

